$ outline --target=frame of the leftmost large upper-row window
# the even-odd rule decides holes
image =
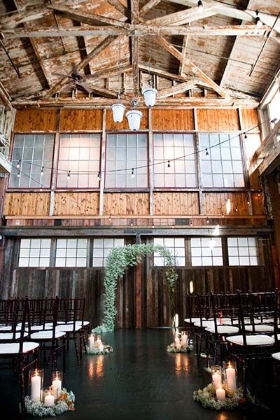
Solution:
[[[10,158],[10,162],[13,165],[13,153],[14,153],[14,148],[15,148],[15,136],[17,136],[18,134],[22,135],[22,136],[27,136],[27,135],[52,135],[53,136],[53,146],[52,146],[52,158],[50,160],[50,185],[49,186],[43,186],[41,187],[10,187],[10,176],[11,173],[8,174],[8,186],[7,186],[7,191],[48,191],[51,190],[52,188],[52,178],[53,178],[53,174],[54,174],[54,159],[55,159],[55,146],[56,146],[56,136],[55,136],[55,132],[13,132],[12,134],[12,141],[11,141],[11,146],[10,146],[10,153],[9,153],[9,158]],[[23,150],[23,149],[22,149]],[[22,161],[20,162],[20,169],[21,170],[21,165],[22,165]],[[30,165],[30,167],[32,166],[32,164]],[[31,181],[31,174],[27,175],[29,178],[29,181]]]

